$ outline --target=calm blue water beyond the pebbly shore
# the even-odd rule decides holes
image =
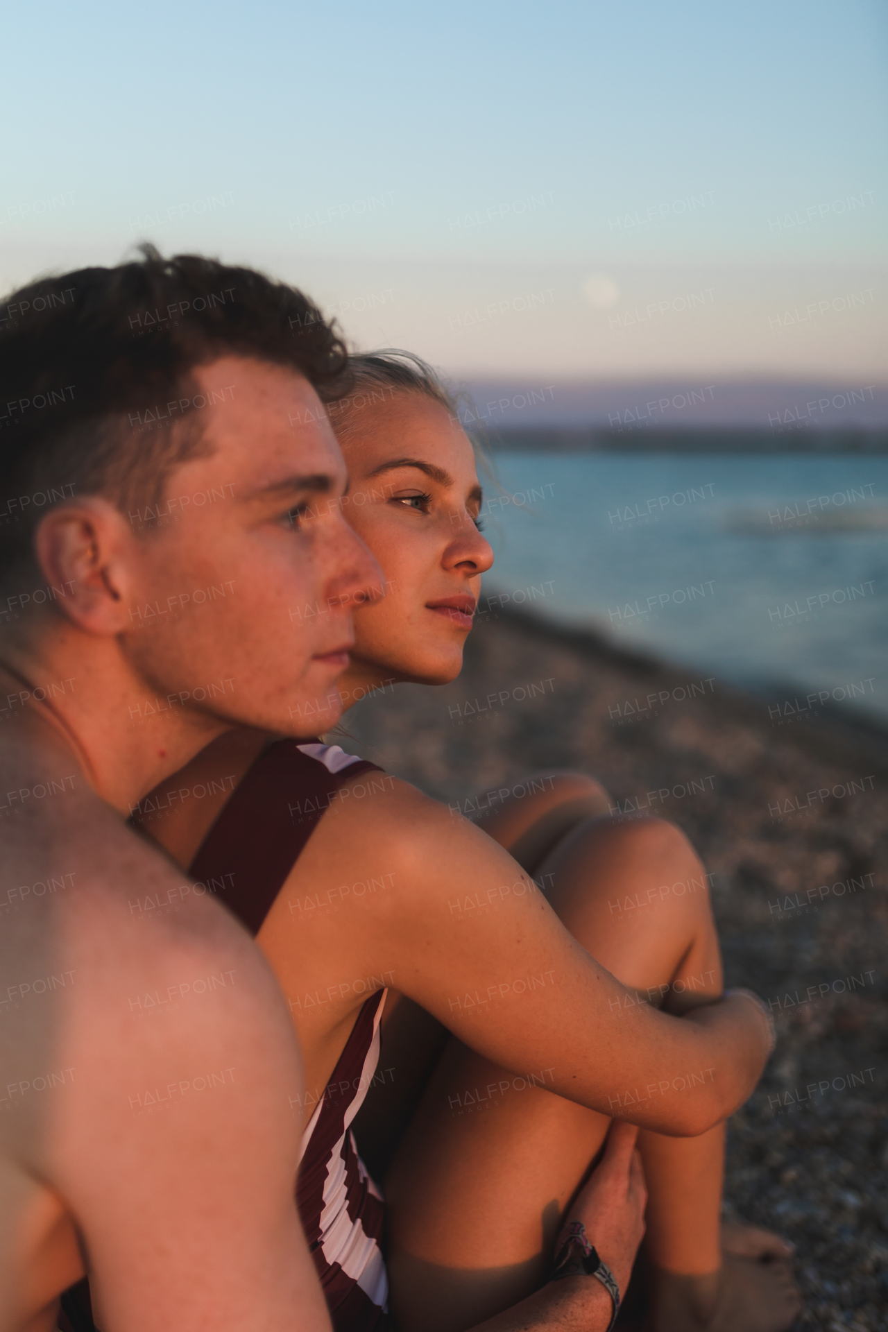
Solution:
[[[509,595],[775,706],[797,686],[888,721],[888,457],[499,453],[497,473],[482,609]]]

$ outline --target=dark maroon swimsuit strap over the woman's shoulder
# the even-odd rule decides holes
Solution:
[[[370,771],[381,771],[378,763],[355,759],[333,773],[297,741],[276,741],[222,806],[192,860],[190,876],[221,887],[222,900],[257,935],[335,793]]]

